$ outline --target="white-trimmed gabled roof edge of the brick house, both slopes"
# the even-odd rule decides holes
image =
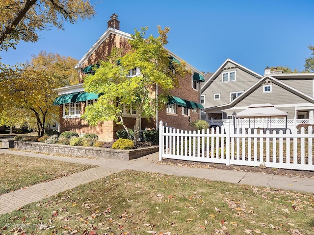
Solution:
[[[94,43],[94,45],[86,52],[86,54],[78,61],[78,64],[74,67],[74,69],[78,69],[78,68],[82,68],[83,64],[86,62],[86,60],[91,56],[91,54],[106,40],[106,38],[111,34],[116,34],[118,36],[124,37],[126,39],[132,40],[131,34],[130,33],[126,33],[123,31],[120,31],[118,29],[114,29],[114,28],[108,28],[105,33],[103,33],[103,35],[97,40],[96,43]],[[170,50],[168,50],[167,48],[164,47],[165,50],[168,51],[169,55],[178,59],[179,61],[183,61],[183,59],[181,59],[179,56],[177,56],[176,54],[174,54],[173,52],[171,52]],[[204,72],[197,70],[196,68],[194,68],[193,66],[191,66],[190,64],[186,63],[186,66],[191,69],[193,72],[197,72],[199,74],[201,74],[202,76],[205,76]]]

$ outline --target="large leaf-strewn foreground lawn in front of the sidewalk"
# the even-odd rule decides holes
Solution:
[[[310,235],[314,195],[124,171],[3,214],[0,225],[2,235]]]

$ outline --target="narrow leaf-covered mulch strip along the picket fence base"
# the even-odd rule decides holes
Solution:
[[[189,168],[235,170],[235,171],[256,172],[256,173],[264,173],[264,174],[275,174],[275,175],[281,175],[281,176],[292,176],[292,177],[303,177],[303,178],[314,179],[314,171],[306,171],[306,170],[289,170],[289,169],[280,169],[280,168],[260,168],[260,167],[253,167],[253,166],[244,166],[244,165],[200,163],[200,162],[191,162],[191,161],[183,161],[183,160],[176,160],[176,159],[163,159],[161,162],[158,162],[158,163],[178,165],[178,166],[189,167]]]

